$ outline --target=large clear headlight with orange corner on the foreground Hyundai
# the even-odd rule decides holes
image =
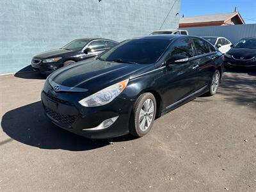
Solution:
[[[120,95],[120,93],[124,91],[128,82],[129,79],[126,79],[119,83],[108,86],[107,88],[104,88],[104,90],[100,90],[99,92],[80,100],[79,104],[84,107],[104,106]]]

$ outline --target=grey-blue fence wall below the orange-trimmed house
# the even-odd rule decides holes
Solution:
[[[233,26],[209,26],[197,28],[184,28],[189,35],[197,36],[224,36],[236,44],[241,38],[256,36],[256,24],[244,24]]]

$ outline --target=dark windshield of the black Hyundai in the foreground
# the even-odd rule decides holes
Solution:
[[[169,40],[126,40],[102,54],[99,59],[118,63],[150,64],[159,59],[169,44]]]

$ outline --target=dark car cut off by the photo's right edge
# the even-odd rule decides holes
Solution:
[[[224,66],[256,67],[256,37],[242,38],[224,56]]]

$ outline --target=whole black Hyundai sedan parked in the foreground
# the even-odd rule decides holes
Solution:
[[[81,136],[144,136],[155,118],[217,92],[221,55],[196,36],[125,40],[97,58],[52,73],[42,104],[54,124]]]

